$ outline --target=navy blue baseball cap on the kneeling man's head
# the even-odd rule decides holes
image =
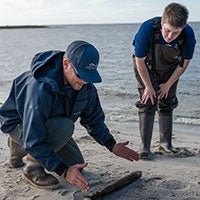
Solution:
[[[102,81],[97,71],[99,53],[93,45],[81,40],[74,41],[67,47],[66,56],[82,80],[87,83]]]

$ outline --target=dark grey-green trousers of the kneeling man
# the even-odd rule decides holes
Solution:
[[[82,153],[72,138],[74,132],[74,123],[72,120],[64,117],[48,119],[46,130],[46,144],[56,152],[64,163],[68,166],[84,163]],[[22,124],[14,128],[9,135],[15,142],[23,145]]]

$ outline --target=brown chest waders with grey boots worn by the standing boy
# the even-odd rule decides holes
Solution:
[[[151,83],[157,94],[159,85],[167,82],[178,65],[183,66],[184,58],[182,55],[184,54],[183,50],[185,49],[185,39],[182,34],[180,34],[179,38],[177,39],[178,47],[161,45],[160,20],[152,20],[154,22],[152,28],[152,41],[150,45],[150,52],[146,57],[145,64],[149,72]],[[134,65],[134,69],[141,99],[145,87],[137,71],[136,65]],[[159,100],[158,98],[155,98],[154,105],[150,100],[148,100],[146,104],[143,104],[141,100],[136,102],[136,107],[139,108],[139,128],[142,141],[140,147],[141,157],[146,156],[146,159],[148,159],[148,155],[150,154],[155,111],[158,111],[160,147],[167,152],[171,152],[172,150],[173,109],[178,105],[178,100],[176,97],[177,84],[178,80],[170,88],[168,97],[166,99]]]

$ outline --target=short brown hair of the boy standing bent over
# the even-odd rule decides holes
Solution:
[[[162,24],[169,23],[176,28],[183,28],[189,16],[188,9],[178,3],[170,3],[165,7],[162,15]]]

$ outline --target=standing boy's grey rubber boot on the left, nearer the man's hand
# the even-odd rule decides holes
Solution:
[[[144,160],[153,159],[153,154],[150,151],[151,138],[153,132],[155,113],[139,113],[139,127],[140,127],[140,137],[142,144],[140,146],[140,157]]]

